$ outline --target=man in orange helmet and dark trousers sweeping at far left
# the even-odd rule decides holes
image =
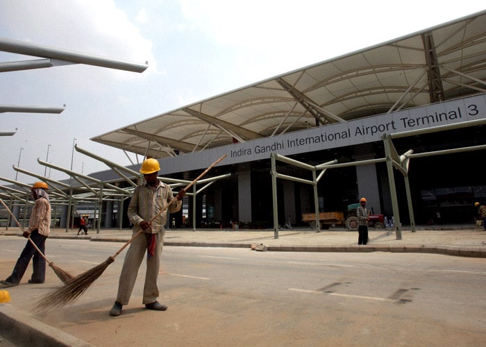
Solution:
[[[51,203],[49,202],[49,194],[47,194],[48,190],[47,183],[42,181],[36,182],[32,186],[31,198],[33,198],[35,203],[31,212],[31,219],[28,221],[28,229],[23,234],[26,239],[31,238],[42,254],[45,251],[46,239],[49,237],[49,232],[51,232]],[[19,285],[31,259],[33,273],[28,283],[44,283],[46,261],[37,252],[33,244],[27,241],[13,268],[12,274],[6,280],[0,280],[0,287],[7,288]]]

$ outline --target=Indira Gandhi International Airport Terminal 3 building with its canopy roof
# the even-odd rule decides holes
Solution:
[[[157,158],[174,192],[226,155],[190,188],[178,226],[299,226],[303,213],[344,212],[362,196],[404,225],[472,223],[474,202],[486,202],[485,124],[483,11],[92,140]],[[90,176],[129,192],[140,164],[128,174],[108,164]],[[101,228],[129,226],[121,195],[100,201]]]

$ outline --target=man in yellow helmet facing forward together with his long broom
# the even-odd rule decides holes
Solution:
[[[60,287],[52,291],[48,296],[41,298],[37,302],[35,310],[37,312],[52,310],[53,308],[60,308],[67,303],[75,301],[76,298],[79,298],[90,288],[93,282],[103,274],[112,262],[115,262],[115,257],[128,245],[130,245],[130,248],[125,257],[123,269],[121,270],[117,301],[115,301],[115,305],[110,310],[110,314],[112,316],[119,316],[121,314],[121,307],[128,303],[145,251],[147,251],[147,269],[143,303],[149,310],[167,310],[167,306],[157,301],[158,262],[165,233],[164,225],[167,219],[164,214],[167,214],[167,209],[170,212],[181,210],[181,200],[187,189],[192,187],[194,183],[206,175],[221,160],[224,160],[226,156],[227,154],[213,162],[208,169],[194,178],[191,183],[186,185],[184,189],[181,189],[177,196],[172,199],[170,199],[173,196],[171,189],[167,185],[160,183],[157,178],[158,170],[160,170],[158,161],[154,159],[144,160],[140,167],[140,172],[144,175],[145,181],[135,187],[130,206],[128,207],[128,217],[130,217],[135,226],[133,228],[132,238],[117,253],[108,257],[101,264],[68,280],[64,287]],[[145,237],[141,235],[145,235]]]

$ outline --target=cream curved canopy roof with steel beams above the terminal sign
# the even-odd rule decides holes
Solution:
[[[92,140],[165,158],[486,92],[486,11],[162,113]]]

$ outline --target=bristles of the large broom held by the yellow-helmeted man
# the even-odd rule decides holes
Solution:
[[[108,265],[114,261],[114,257],[108,257],[108,259],[101,264],[94,266],[94,268],[81,273],[71,280],[68,280],[63,287],[51,291],[50,294],[38,301],[35,311],[40,312],[51,310],[53,308],[62,308],[68,303],[75,301],[91,287],[94,281],[106,270]]]

